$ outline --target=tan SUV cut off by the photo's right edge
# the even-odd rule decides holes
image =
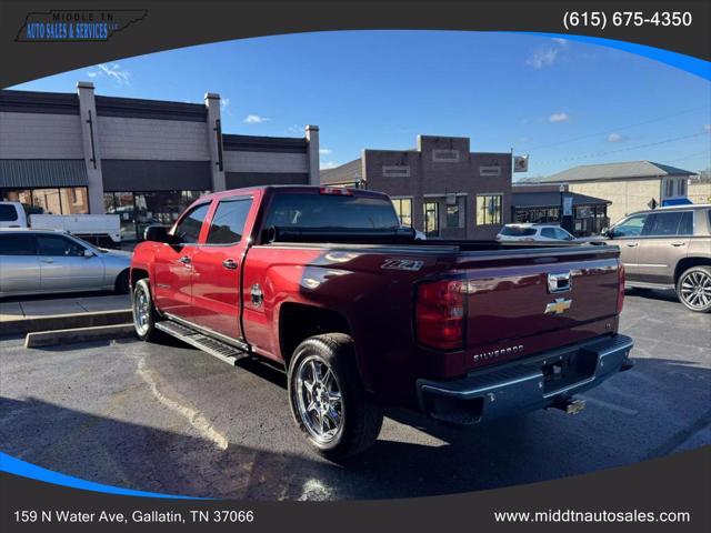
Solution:
[[[602,237],[620,247],[628,286],[673,289],[690,310],[711,312],[711,205],[640,211]]]

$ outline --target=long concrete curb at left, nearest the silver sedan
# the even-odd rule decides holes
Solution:
[[[31,319],[6,320],[0,322],[0,335],[29,333],[33,331],[126,324],[127,322],[131,322],[131,320],[132,316],[130,309],[32,316]]]

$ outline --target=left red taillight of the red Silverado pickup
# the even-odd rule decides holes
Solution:
[[[464,343],[464,293],[461,281],[430,281],[418,285],[414,306],[418,341],[438,350]]]

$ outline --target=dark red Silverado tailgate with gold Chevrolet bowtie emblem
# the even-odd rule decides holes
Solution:
[[[467,349],[515,346],[532,335],[580,329],[615,315],[618,250],[575,248],[580,250],[529,251],[509,264],[498,261],[488,266],[477,261],[468,268]]]

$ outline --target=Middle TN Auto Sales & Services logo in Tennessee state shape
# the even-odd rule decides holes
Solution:
[[[30,12],[17,42],[108,41],[114,33],[143,20],[147,9],[51,10]]]

